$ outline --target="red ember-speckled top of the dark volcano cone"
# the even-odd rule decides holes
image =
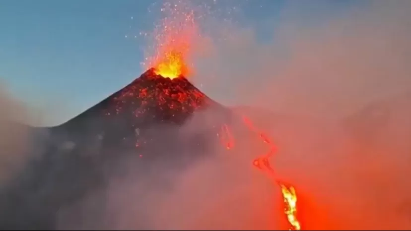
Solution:
[[[115,97],[116,111],[111,115],[132,113],[139,119],[184,122],[194,111],[216,104],[184,76],[172,79],[149,69]],[[124,112],[124,113],[122,113]]]

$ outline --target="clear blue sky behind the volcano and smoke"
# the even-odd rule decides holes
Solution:
[[[218,1],[238,5],[241,0]],[[275,18],[284,5],[284,0],[242,2],[241,20],[256,27]],[[301,7],[313,15],[318,14],[316,5],[338,10],[355,4],[353,0],[302,2]],[[27,104],[55,110],[51,123],[64,122],[141,74],[144,43],[134,35],[152,29],[158,19],[147,10],[152,3],[1,0],[0,79]]]

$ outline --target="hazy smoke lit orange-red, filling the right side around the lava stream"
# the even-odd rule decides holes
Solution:
[[[236,110],[272,136],[278,146],[272,166],[297,190],[303,229],[411,228],[410,6],[374,1],[306,25],[297,17],[301,6],[290,3],[270,41],[232,26],[231,36],[208,44],[209,57],[197,63],[194,82],[204,84],[206,94],[249,106]],[[1,106],[9,102],[2,99]],[[375,117],[369,104],[389,115]],[[5,150],[25,136],[10,136],[3,116]],[[194,116],[181,136],[203,123]],[[280,189],[252,166],[267,147],[241,122],[231,130],[232,150],[220,151],[215,142],[212,158],[181,171],[162,163],[137,180],[141,170],[119,167],[127,174],[111,177],[104,193],[59,211],[59,229],[288,229]],[[21,163],[2,153],[1,163]],[[11,172],[0,173],[3,180]],[[72,214],[88,222],[76,226]]]

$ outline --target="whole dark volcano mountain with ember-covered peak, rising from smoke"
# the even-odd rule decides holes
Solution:
[[[36,149],[41,158],[0,192],[0,229],[65,229],[58,227],[61,211],[91,192],[104,195],[110,177],[121,178],[129,168],[136,179],[150,177],[154,165],[181,170],[207,158],[230,119],[230,110],[183,76],[163,78],[150,69],[66,123],[38,129],[35,136],[45,143]],[[104,196],[95,204],[103,211]],[[84,229],[84,219],[74,219],[73,229]]]

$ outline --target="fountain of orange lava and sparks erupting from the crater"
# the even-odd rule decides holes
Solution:
[[[195,45],[199,43],[199,27],[194,11],[184,2],[166,2],[161,8],[163,17],[152,32],[154,44],[146,54],[143,67],[165,78],[188,77],[193,68]]]

